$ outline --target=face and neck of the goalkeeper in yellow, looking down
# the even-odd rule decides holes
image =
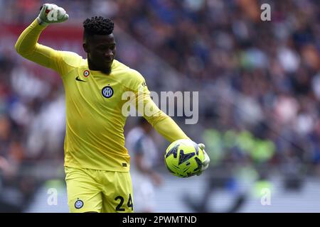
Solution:
[[[83,49],[87,52],[87,64],[90,70],[111,73],[111,65],[116,54],[114,35],[91,35],[85,38]]]

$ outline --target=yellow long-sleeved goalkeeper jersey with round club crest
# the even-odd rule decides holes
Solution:
[[[129,154],[124,147],[122,107],[124,92],[142,92],[143,105],[151,106],[146,118],[170,142],[188,138],[176,123],[154,104],[144,77],[114,60],[110,74],[90,70],[87,59],[74,52],[58,51],[38,44],[45,29],[33,21],[16,42],[16,51],[28,60],[49,67],[63,79],[65,88],[65,166],[93,170],[129,171]],[[137,103],[136,107],[137,107]],[[48,119],[50,121],[50,119]]]

